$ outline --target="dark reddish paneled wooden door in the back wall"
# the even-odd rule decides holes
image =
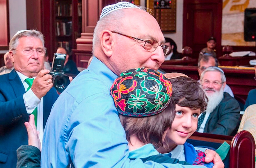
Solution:
[[[221,56],[222,0],[186,0],[183,13],[183,46],[193,50],[193,58],[206,47],[210,36],[216,38],[217,56]]]

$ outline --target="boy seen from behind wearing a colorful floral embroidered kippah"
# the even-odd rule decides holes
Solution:
[[[202,155],[196,155],[191,163],[187,163],[169,156],[161,156],[155,149],[163,146],[166,133],[172,129],[175,117],[175,104],[171,98],[173,92],[175,91],[172,89],[171,82],[163,74],[148,68],[125,71],[114,81],[111,95],[126,132],[128,157],[131,160],[144,158],[143,162],[152,160],[159,163],[184,165],[206,164],[202,163],[203,152]],[[204,92],[203,96],[204,100],[200,102],[203,104],[202,110],[206,107]],[[195,120],[200,111],[197,108],[196,115],[193,113]],[[192,133],[192,130],[190,132]],[[207,163],[205,166],[212,167],[213,163]]]

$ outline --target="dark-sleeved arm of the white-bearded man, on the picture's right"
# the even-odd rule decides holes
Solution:
[[[210,134],[230,135],[239,124],[240,106],[235,99],[228,99],[221,102],[218,107],[218,122],[214,125],[214,129]]]

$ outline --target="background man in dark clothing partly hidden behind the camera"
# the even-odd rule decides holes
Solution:
[[[66,74],[73,74],[73,75],[79,74],[80,71],[77,70],[76,63],[73,60],[69,59],[69,54],[67,53],[67,50],[65,48],[59,47],[56,53],[66,54],[66,59],[65,59],[64,68],[63,68],[63,71]]]

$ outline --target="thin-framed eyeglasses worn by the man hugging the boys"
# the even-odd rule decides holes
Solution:
[[[115,32],[115,31],[111,31],[112,33],[117,33],[117,34],[120,34],[122,36],[126,36],[126,37],[129,37],[131,39],[135,39],[135,40],[140,40],[140,41],[144,41],[145,44],[143,45],[143,48],[149,52],[154,52],[157,47],[159,46],[159,43],[155,40],[152,40],[152,39],[147,39],[147,40],[144,40],[144,39],[139,39],[137,37],[132,37],[132,36],[127,36],[125,34],[122,34],[122,33],[119,33],[119,32]],[[169,47],[167,45],[163,45],[161,44],[160,45],[163,49],[163,54],[164,56],[166,56],[166,54],[168,53],[169,51]]]

